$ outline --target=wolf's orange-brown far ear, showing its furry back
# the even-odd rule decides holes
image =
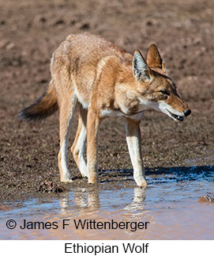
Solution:
[[[165,71],[163,59],[156,47],[156,44],[151,44],[148,48],[147,63],[149,67],[157,67]]]

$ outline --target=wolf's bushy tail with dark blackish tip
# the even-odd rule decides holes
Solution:
[[[18,118],[24,120],[43,120],[48,116],[51,116],[58,109],[56,92],[54,84],[51,81],[44,94],[38,98],[32,105],[29,105],[26,109],[23,109],[19,113]]]

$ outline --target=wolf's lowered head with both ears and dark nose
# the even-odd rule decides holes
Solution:
[[[141,52],[134,52],[133,75],[137,79],[142,104],[166,113],[176,121],[190,115],[188,105],[178,96],[175,82],[165,71],[163,59],[155,44],[148,49],[147,62]]]

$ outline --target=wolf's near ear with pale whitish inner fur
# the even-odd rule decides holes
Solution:
[[[135,51],[133,55],[133,75],[137,80],[148,80],[150,68],[145,62],[144,57],[141,55],[141,52]]]

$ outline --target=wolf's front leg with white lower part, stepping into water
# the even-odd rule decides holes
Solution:
[[[146,187],[145,167],[141,154],[141,130],[140,120],[126,118],[126,142],[128,144],[130,158],[133,165],[133,178],[137,185]]]

